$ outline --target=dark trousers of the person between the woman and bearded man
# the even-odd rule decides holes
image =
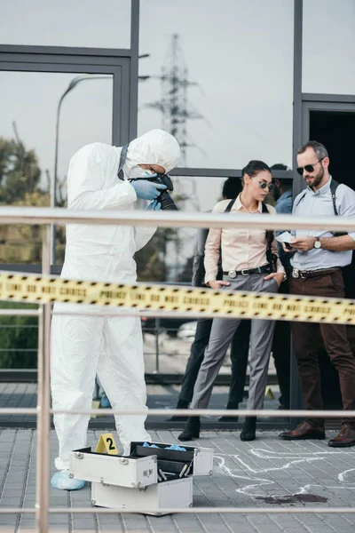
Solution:
[[[280,292],[288,294],[289,283],[282,282]],[[290,362],[291,362],[291,324],[290,322],[275,322],[272,340],[272,357],[275,363],[276,374],[280,386],[279,402],[282,407],[289,409],[290,391]]]

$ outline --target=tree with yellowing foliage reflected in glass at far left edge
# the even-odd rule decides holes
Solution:
[[[40,186],[41,170],[35,150],[19,140],[0,137],[0,205],[50,205],[50,195]],[[59,229],[64,247],[64,229]],[[41,227],[12,225],[0,227],[0,261],[39,264],[42,259]],[[28,307],[0,302],[1,308]],[[29,306],[36,307],[36,306]],[[0,317],[0,368],[36,368],[37,318]]]

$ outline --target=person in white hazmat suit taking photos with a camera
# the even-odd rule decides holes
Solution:
[[[123,148],[94,143],[72,157],[67,175],[68,209],[133,210],[138,198],[153,201],[166,187],[146,179],[177,164],[177,140],[162,130],[148,131]],[[133,259],[156,228],[67,225],[66,258],[61,277],[77,280],[135,283]],[[90,410],[99,379],[113,409],[146,409],[143,341],[137,316],[98,316],[107,307],[57,303],[51,322],[51,396],[55,410]],[[82,312],[80,316],[57,312]],[[96,313],[95,316],[90,314]],[[54,425],[59,440],[56,489],[81,489],[84,481],[69,478],[69,452],[86,446],[90,415],[59,414]],[[146,416],[117,416],[115,424],[124,453],[131,441],[150,441]]]

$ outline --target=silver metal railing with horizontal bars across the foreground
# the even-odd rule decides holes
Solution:
[[[258,227],[264,229],[265,218],[263,215],[233,215],[214,213],[181,213],[175,211],[146,212],[146,211],[67,211],[59,208],[20,208],[3,207],[0,208],[0,223],[3,224],[45,224],[43,232],[43,274],[50,274],[50,251],[51,251],[51,227],[50,224],[105,224],[105,225],[145,225],[158,227]],[[336,229],[337,231],[355,231],[355,219],[343,217],[319,217],[312,218],[311,221],[303,217],[291,215],[269,215],[267,218],[268,229]],[[44,304],[38,310],[4,309],[0,314],[22,314],[24,316],[39,317],[39,337],[38,337],[38,395],[37,407],[35,409],[0,409],[0,414],[36,414],[37,415],[37,446],[36,446],[36,507],[35,508],[3,508],[0,513],[36,513],[36,530],[39,533],[48,531],[49,513],[137,513],[131,509],[118,511],[117,509],[93,509],[49,507],[49,433],[50,414],[71,413],[71,414],[117,414],[117,415],[146,415],[146,410],[51,410],[50,406],[50,324],[51,324],[51,304]],[[112,314],[112,312],[111,312]],[[129,314],[129,313],[127,313]],[[149,313],[152,315],[152,313]],[[155,313],[154,313],[155,314]],[[159,313],[156,313],[157,315]],[[165,314],[165,313],[163,313]],[[185,315],[185,313],[174,312],[174,316]],[[193,316],[193,314],[189,314]],[[305,410],[149,410],[148,415],[185,415],[201,416],[205,414],[217,416],[245,416],[261,417],[291,417],[299,418],[309,414]],[[329,411],[312,411],[314,417],[327,418]],[[347,417],[355,417],[355,411],[346,411]],[[332,418],[343,417],[343,411],[331,412]],[[140,512],[148,510],[142,508]],[[319,513],[317,508],[277,508],[269,507],[195,507],[186,509],[149,509],[149,512],[167,513]],[[355,513],[355,508],[351,507],[324,507],[321,513]]]

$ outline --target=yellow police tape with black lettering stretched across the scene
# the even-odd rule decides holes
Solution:
[[[227,287],[216,291],[146,283],[120,285],[9,272],[0,274],[0,299],[31,303],[70,302],[269,320],[355,323],[355,300],[350,299],[231,292]]]

